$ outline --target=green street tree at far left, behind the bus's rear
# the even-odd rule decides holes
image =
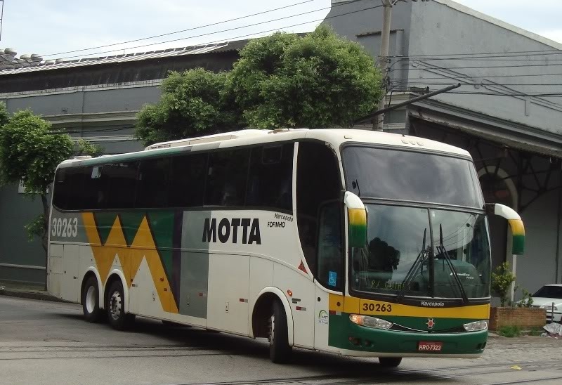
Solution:
[[[5,106],[0,105],[0,117],[3,109]],[[41,199],[43,212],[25,228],[30,237],[41,237],[46,252],[48,186],[57,165],[72,157],[74,143],[67,134],[53,134],[51,124],[30,110],[15,112],[4,122],[0,126],[0,181],[3,184],[21,182],[27,197]]]

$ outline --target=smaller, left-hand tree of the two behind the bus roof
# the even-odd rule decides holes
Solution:
[[[171,72],[158,103],[137,115],[136,138],[144,145],[236,129],[237,113],[226,93],[226,73],[195,68]]]

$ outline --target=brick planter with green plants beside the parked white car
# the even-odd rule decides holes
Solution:
[[[508,294],[516,276],[511,273],[509,263],[504,262],[492,273],[492,292],[499,296],[499,306],[490,308],[490,330],[502,327],[519,327],[521,329],[534,329],[543,327],[546,323],[546,311],[532,307],[532,296],[525,290],[521,301],[512,303]]]

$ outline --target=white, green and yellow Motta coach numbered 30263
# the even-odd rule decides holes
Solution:
[[[136,315],[292,348],[474,358],[490,232],[469,152],[354,129],[242,130],[62,162],[48,290],[115,329]]]

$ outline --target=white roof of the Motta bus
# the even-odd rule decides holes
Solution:
[[[182,152],[233,148],[243,145],[296,141],[299,139],[324,141],[330,143],[334,148],[339,148],[339,146],[344,143],[365,143],[372,145],[388,145],[403,149],[428,150],[470,157],[468,151],[452,145],[397,133],[359,129],[247,129],[200,136],[198,138],[181,139],[179,141],[155,143],[145,148],[144,151],[107,155],[91,159],[68,159],[61,163],[60,167],[107,164],[149,157],[160,157],[162,155],[181,154]]]

